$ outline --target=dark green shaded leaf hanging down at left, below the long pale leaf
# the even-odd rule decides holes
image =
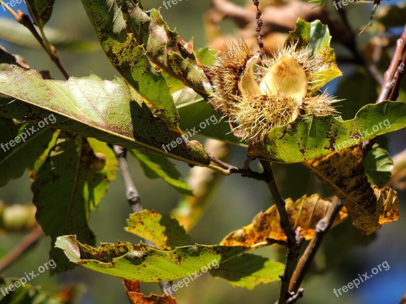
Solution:
[[[56,237],[70,233],[83,242],[94,243],[87,222],[90,208],[98,205],[109,185],[105,162],[94,154],[85,138],[60,133],[31,187],[37,221],[52,243]],[[57,264],[53,272],[73,267],[55,248],[50,256]]]

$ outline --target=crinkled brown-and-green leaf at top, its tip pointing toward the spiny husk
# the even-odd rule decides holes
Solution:
[[[187,43],[176,30],[171,31],[159,11],[152,9],[145,12],[140,1],[113,2],[122,8],[130,31],[140,45],[145,45],[147,55],[156,65],[201,96],[206,98],[210,95],[211,85],[193,53],[193,42]]]

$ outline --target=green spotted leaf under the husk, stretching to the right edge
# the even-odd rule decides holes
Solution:
[[[253,141],[250,158],[297,163],[354,146],[377,135],[406,127],[406,102],[384,101],[363,106],[354,119],[341,121],[332,115],[299,116],[290,124],[275,127],[263,144]]]

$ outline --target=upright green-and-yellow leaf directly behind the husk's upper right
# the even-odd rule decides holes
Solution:
[[[334,50],[330,48],[330,32],[327,25],[323,25],[320,20],[312,23],[300,18],[297,19],[296,28],[289,33],[285,46],[295,45],[296,48],[310,50],[313,62],[317,65],[317,84],[308,84],[308,88],[313,88],[317,92],[321,87],[332,79],[342,75],[335,62]]]

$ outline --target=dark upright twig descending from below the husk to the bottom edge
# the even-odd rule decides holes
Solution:
[[[277,301],[277,304],[286,304],[288,299],[292,297],[292,294],[289,293],[289,282],[295,270],[297,258],[299,257],[299,249],[304,241],[304,238],[300,236],[300,228],[298,228],[296,232],[292,230],[289,216],[285,208],[285,200],[279,193],[270,164],[266,161],[261,161],[261,165],[264,169],[264,173],[268,177],[266,183],[272,197],[274,198],[275,205],[279,212],[280,224],[287,238],[288,249],[286,252],[285,272],[280,275],[281,289],[279,292],[279,299]]]

